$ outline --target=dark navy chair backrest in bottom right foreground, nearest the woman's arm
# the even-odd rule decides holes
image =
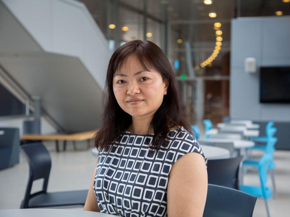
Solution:
[[[219,185],[208,184],[203,217],[250,217],[257,197]]]

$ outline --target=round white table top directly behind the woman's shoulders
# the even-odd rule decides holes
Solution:
[[[254,143],[255,144],[255,143]],[[206,146],[200,145],[204,155],[207,159],[222,159],[222,158],[229,158],[230,152],[225,148],[215,147],[215,146]],[[94,157],[98,157],[98,150],[96,148],[92,149],[92,155]]]

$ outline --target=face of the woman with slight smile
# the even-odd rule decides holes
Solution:
[[[132,117],[151,117],[161,106],[168,82],[160,73],[146,71],[137,56],[131,55],[113,78],[113,91],[119,106]]]

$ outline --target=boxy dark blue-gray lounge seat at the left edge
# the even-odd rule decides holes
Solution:
[[[19,163],[19,129],[0,128],[0,170]]]

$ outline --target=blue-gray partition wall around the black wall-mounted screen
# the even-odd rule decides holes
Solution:
[[[252,119],[265,123],[272,120],[283,122],[283,126],[285,124],[290,126],[290,104],[260,103],[259,71],[260,67],[290,66],[289,39],[289,16],[245,17],[231,21],[230,116],[232,118]],[[247,57],[256,59],[256,73],[245,72],[244,61]],[[279,135],[281,138],[278,138],[278,143],[287,138],[287,135],[280,133]],[[290,143],[286,143],[287,140],[278,147],[290,149]]]

